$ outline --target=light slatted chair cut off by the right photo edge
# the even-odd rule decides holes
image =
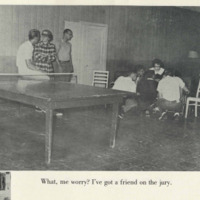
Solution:
[[[200,106],[200,80],[197,87],[196,97],[188,97],[186,101],[186,109],[185,109],[185,118],[188,115],[189,106],[194,106],[195,108],[195,117],[197,117],[197,108]]]

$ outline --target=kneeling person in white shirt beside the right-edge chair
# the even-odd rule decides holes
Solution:
[[[179,116],[181,112],[181,90],[189,93],[189,90],[185,86],[183,80],[179,77],[173,76],[173,70],[167,69],[164,72],[163,79],[158,84],[158,101],[157,105],[161,111],[161,117],[167,113],[167,111],[174,112],[174,117]]]

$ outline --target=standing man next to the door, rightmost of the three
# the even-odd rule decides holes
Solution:
[[[73,73],[73,64],[72,64],[72,45],[70,40],[73,37],[73,32],[70,29],[65,29],[63,31],[62,40],[56,45],[57,58],[59,64],[59,72],[61,73]],[[67,82],[71,81],[71,75],[60,77],[60,80]]]

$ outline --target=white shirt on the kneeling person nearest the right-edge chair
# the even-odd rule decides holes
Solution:
[[[180,101],[180,89],[185,87],[185,83],[179,77],[166,76],[158,84],[158,92],[162,98],[168,101]]]

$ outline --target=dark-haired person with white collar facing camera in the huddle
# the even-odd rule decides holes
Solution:
[[[164,64],[161,60],[159,59],[154,59],[152,61],[152,68],[150,68],[149,70],[152,70],[154,72],[154,75],[155,75],[155,80],[157,82],[159,82],[162,77],[163,77],[163,74],[164,74]]]

